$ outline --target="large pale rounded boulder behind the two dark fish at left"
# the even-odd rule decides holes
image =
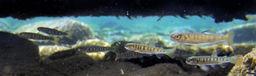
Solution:
[[[21,32],[31,32],[31,33],[38,33],[38,27],[48,27],[54,29],[58,27],[58,31],[61,32],[73,32],[72,39],[68,39],[67,37],[63,37],[63,39],[59,40],[59,44],[69,44],[73,45],[76,44],[78,40],[87,40],[87,39],[94,39],[93,31],[89,25],[78,22],[76,20],[72,20],[71,18],[61,18],[59,20],[51,20],[51,21],[41,21],[37,23],[32,23],[28,25],[24,25],[19,27],[13,33],[21,33]],[[39,34],[50,36],[49,34],[39,32]],[[51,45],[52,42],[48,43],[39,43],[36,40],[33,40],[35,43],[39,45]]]

